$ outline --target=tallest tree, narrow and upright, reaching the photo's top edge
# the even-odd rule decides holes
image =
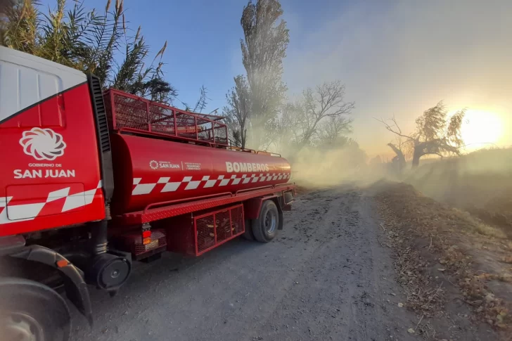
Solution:
[[[250,90],[250,120],[252,128],[260,131],[269,128],[286,92],[282,75],[289,34],[286,22],[278,21],[281,15],[278,0],[251,0],[241,18],[244,39],[240,44]],[[260,145],[263,134],[258,135],[255,143]]]

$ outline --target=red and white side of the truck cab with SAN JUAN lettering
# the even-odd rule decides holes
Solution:
[[[87,77],[0,46],[0,236],[103,219]]]

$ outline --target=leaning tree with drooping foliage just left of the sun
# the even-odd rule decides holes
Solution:
[[[411,143],[413,149],[412,167],[419,165],[420,158],[424,155],[460,155],[463,140],[461,137],[461,126],[466,109],[459,110],[452,117],[447,117],[447,108],[440,101],[433,108],[425,110],[423,115],[416,119],[416,130],[412,134],[402,133],[395,118],[388,121],[382,118],[378,120],[385,128],[396,136],[403,138],[404,143]],[[400,140],[401,141],[401,140]],[[389,143],[395,153],[402,150]],[[398,153],[397,153],[398,155]],[[402,153],[403,155],[403,153]]]

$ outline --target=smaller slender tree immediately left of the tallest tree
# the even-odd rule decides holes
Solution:
[[[250,89],[243,75],[236,76],[234,80],[235,86],[226,94],[227,105],[222,112],[228,118],[234,144],[245,148],[250,127]]]

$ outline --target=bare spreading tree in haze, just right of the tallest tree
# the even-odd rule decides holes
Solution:
[[[328,132],[321,134],[332,138],[334,134],[339,134],[343,130],[350,129],[352,120],[345,117],[349,115],[354,108],[354,102],[345,102],[345,85],[340,81],[326,82],[316,89],[306,89],[302,93],[302,98],[296,105],[299,139],[297,148],[300,150],[309,143],[318,134],[321,122],[324,119],[332,120]],[[326,123],[330,124],[330,123]],[[348,130],[347,130],[348,131]]]

